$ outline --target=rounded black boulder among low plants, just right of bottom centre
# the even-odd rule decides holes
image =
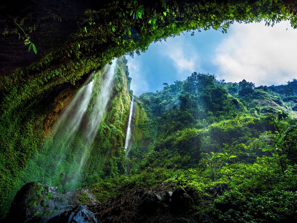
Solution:
[[[189,209],[193,200],[183,187],[179,187],[172,193],[171,203],[172,210],[180,212]]]

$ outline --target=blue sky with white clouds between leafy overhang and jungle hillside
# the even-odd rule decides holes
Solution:
[[[297,30],[282,21],[274,27],[264,22],[216,30],[185,32],[166,42],[151,43],[134,58],[126,56],[134,95],[155,92],[163,83],[183,81],[191,73],[210,73],[218,80],[246,79],[256,86],[285,84],[297,78]]]

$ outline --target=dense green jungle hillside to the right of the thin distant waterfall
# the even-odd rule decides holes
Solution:
[[[130,150],[128,175],[114,175],[89,191],[111,208],[116,208],[113,197],[126,199],[126,207],[120,214],[98,208],[99,219],[129,222],[134,214],[130,222],[142,222],[143,216],[148,222],[295,221],[296,82],[255,87],[194,72],[185,81],[140,95],[137,106],[146,115],[135,128],[134,136],[140,129],[142,136]],[[282,91],[287,87],[289,93]],[[179,186],[190,202],[175,204],[178,210],[162,201],[154,204],[157,210],[165,205],[173,211],[129,209],[132,198],[137,200],[130,191],[148,188],[163,196]],[[89,202],[83,192],[80,200]]]

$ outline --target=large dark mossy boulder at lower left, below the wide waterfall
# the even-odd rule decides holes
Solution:
[[[71,195],[58,194],[57,189],[37,182],[26,183],[15,195],[4,222],[46,222],[72,208]]]

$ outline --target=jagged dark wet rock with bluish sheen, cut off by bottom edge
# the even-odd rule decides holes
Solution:
[[[51,218],[48,223],[97,223],[97,219],[93,212],[89,211],[85,205],[79,205],[71,211],[64,211]]]

